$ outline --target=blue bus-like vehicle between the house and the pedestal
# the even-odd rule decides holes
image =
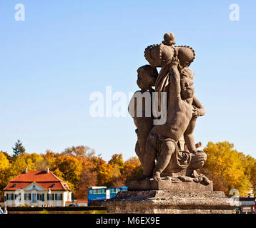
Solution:
[[[118,192],[127,192],[127,187],[93,186],[88,188],[88,206],[100,206],[102,201],[111,199]]]

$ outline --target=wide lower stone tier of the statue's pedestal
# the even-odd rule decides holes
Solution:
[[[239,202],[224,192],[150,190],[119,192],[104,205],[109,213],[233,214]]]

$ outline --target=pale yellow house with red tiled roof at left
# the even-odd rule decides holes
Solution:
[[[65,207],[66,202],[71,200],[72,191],[67,183],[49,169],[26,169],[4,188],[4,204],[9,207]]]

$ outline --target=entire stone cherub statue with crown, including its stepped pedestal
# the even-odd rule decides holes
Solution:
[[[213,191],[212,181],[197,172],[207,155],[197,150],[193,136],[197,117],[205,115],[188,68],[195,51],[174,44],[174,35],[165,33],[161,44],[146,48],[149,65],[137,70],[141,90],[134,93],[129,113],[137,127],[135,152],[144,175],[127,181],[128,192],[104,202],[109,213],[225,214],[240,205]]]

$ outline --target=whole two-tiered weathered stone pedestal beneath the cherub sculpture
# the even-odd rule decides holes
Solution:
[[[184,179],[183,179],[184,180]],[[189,180],[189,179],[186,179]],[[128,192],[118,192],[104,205],[109,213],[233,214],[239,202],[212,191],[212,182],[166,178],[129,180]]]

